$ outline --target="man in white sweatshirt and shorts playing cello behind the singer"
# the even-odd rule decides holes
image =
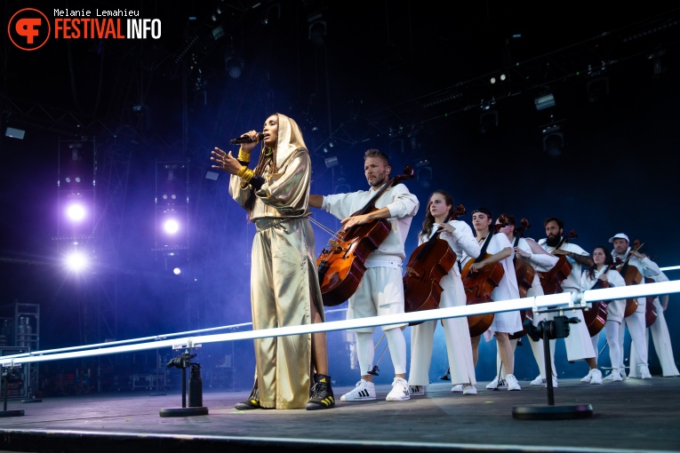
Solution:
[[[404,313],[404,283],[402,282],[402,262],[406,258],[404,242],[411,227],[412,217],[418,212],[418,198],[409,192],[404,184],[389,187],[375,201],[375,211],[353,216],[367,203],[371,203],[373,195],[388,184],[388,155],[378,149],[369,149],[364,154],[364,174],[369,190],[360,190],[350,194],[309,195],[309,206],[330,212],[342,220],[342,228],[365,225],[374,220],[389,219],[390,231],[387,238],[377,250],[373,250],[364,262],[366,271],[354,295],[349,298],[348,319],[365,318],[384,314]],[[395,378],[392,391],[387,401],[404,401],[410,399],[408,382],[406,382],[406,339],[402,327],[405,324],[382,326],[388,338],[389,354],[395,367]],[[361,370],[361,379],[354,390],[342,395],[340,401],[375,400],[375,385],[369,374],[373,362],[372,327],[357,329],[356,354]]]

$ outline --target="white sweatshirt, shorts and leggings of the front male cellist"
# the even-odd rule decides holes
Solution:
[[[381,187],[371,187],[350,194],[324,196],[322,209],[338,219],[347,219],[371,202]],[[390,231],[388,237],[366,258],[366,271],[354,295],[349,298],[347,319],[358,319],[383,314],[404,313],[404,282],[402,262],[406,258],[404,242],[411,227],[412,217],[418,212],[418,198],[404,184],[388,187],[374,203],[375,208],[388,208]],[[395,374],[406,372],[406,341],[400,329],[406,324],[382,326],[388,338],[389,354]],[[399,329],[397,329],[399,328]],[[375,328],[353,330],[356,332],[356,354],[361,375],[366,376],[373,365],[373,339]]]

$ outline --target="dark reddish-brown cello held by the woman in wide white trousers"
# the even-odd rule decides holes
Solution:
[[[444,223],[467,213],[465,206],[459,204],[456,211],[449,213]],[[439,282],[451,271],[457,258],[449,242],[439,238],[441,231],[442,227],[439,227],[427,242],[421,243],[416,250],[413,250],[406,265],[406,274],[403,279],[406,313],[431,310],[439,306],[442,291],[444,291]]]

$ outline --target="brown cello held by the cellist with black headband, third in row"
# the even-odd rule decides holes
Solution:
[[[493,234],[497,234],[500,228],[508,225],[508,220],[504,217],[499,218],[500,223],[496,225],[496,230],[486,236],[486,241],[482,246],[482,250],[479,253],[479,257],[476,259],[469,259],[468,262],[463,266],[463,270],[460,273],[463,287],[465,288],[465,297],[467,299],[466,305],[474,304],[484,304],[484,302],[492,302],[491,298],[492,291],[496,288],[500,280],[505,275],[505,270],[503,265],[499,262],[492,263],[490,265],[484,266],[479,269],[475,274],[470,274],[470,267],[473,263],[478,263],[486,258],[492,257],[492,254],[486,253],[486,248],[491,242]],[[482,335],[486,330],[488,330],[493,322],[493,314],[473,314],[468,316],[468,328],[470,330],[470,337],[477,337]]]

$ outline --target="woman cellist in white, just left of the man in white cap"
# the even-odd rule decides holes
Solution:
[[[608,287],[626,286],[623,277],[613,269],[614,258],[612,253],[604,246],[597,246],[593,250],[593,266],[589,266],[586,272],[581,274],[581,290],[592,290],[598,282],[607,282]],[[607,304],[607,321],[604,322],[604,332],[607,335],[609,345],[609,358],[612,361],[612,380],[620,381],[619,364],[621,362],[621,347],[619,344],[619,330],[623,321],[623,312],[626,310],[626,301],[612,300]],[[597,341],[600,338],[599,332],[592,337],[593,349],[597,351]],[[597,384],[594,380],[590,384]]]

